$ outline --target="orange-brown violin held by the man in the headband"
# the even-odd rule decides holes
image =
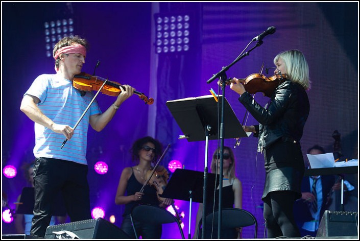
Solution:
[[[106,80],[104,78],[101,78],[99,76],[92,76],[82,72],[79,75],[74,76],[73,86],[80,91],[98,91],[105,81]],[[123,87],[120,83],[114,81],[106,81],[104,87],[101,89],[101,92],[110,96],[117,96],[122,91],[120,89],[120,86]],[[136,90],[134,91],[134,93],[137,94],[139,98],[145,102],[145,104],[152,105],[154,103],[154,99],[148,98],[144,93]]]

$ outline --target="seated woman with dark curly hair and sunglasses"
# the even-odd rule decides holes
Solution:
[[[132,154],[132,160],[138,162],[138,164],[124,168],[117,186],[115,204],[125,204],[121,229],[131,238],[135,238],[130,220],[132,207],[138,204],[150,204],[165,208],[171,205],[173,200],[165,199],[160,203],[157,198],[156,189],[151,185],[146,185],[143,192],[140,192],[143,184],[147,181],[146,176],[152,168],[152,163],[156,162],[162,154],[161,143],[150,136],[143,137],[133,143],[130,152]],[[163,166],[158,165],[157,170],[163,170],[163,168]],[[161,238],[161,225],[141,223],[136,224],[136,228],[138,236],[142,238]]]

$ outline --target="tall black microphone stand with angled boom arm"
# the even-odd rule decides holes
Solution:
[[[243,59],[245,56],[248,56],[251,51],[253,51],[256,47],[262,44],[262,40],[259,40],[255,46],[253,46],[248,52],[238,56],[231,64],[223,67],[217,74],[213,75],[207,83],[210,84],[213,80],[219,78],[222,88],[222,105],[221,105],[221,123],[220,123],[220,180],[219,180],[219,216],[218,216],[218,239],[221,238],[221,223],[222,223],[222,189],[223,189],[223,160],[224,160],[224,103],[225,103],[225,87],[226,87],[226,71],[237,63],[239,60]],[[204,197],[205,199],[205,197]],[[205,206],[203,205],[203,209],[205,210]],[[203,211],[203,220],[205,220],[205,214]],[[204,223],[203,223],[204,224]],[[204,226],[203,226],[204,228]],[[202,237],[204,238],[204,237]]]

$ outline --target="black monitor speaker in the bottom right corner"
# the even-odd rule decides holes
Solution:
[[[357,219],[357,212],[326,210],[316,236],[355,236],[357,235]]]

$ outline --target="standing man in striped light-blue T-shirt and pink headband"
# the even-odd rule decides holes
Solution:
[[[38,76],[23,95],[20,110],[35,123],[35,205],[30,234],[44,237],[51,220],[53,197],[62,191],[71,222],[91,219],[87,181],[88,125],[101,131],[134,92],[123,85],[115,102],[102,112],[92,92],[81,93],[73,78],[81,73],[88,43],[64,37],[54,46],[56,74]],[[83,115],[83,116],[82,116]],[[78,126],[76,123],[80,120]],[[75,128],[77,129],[75,130]],[[64,137],[67,143],[61,144]]]

